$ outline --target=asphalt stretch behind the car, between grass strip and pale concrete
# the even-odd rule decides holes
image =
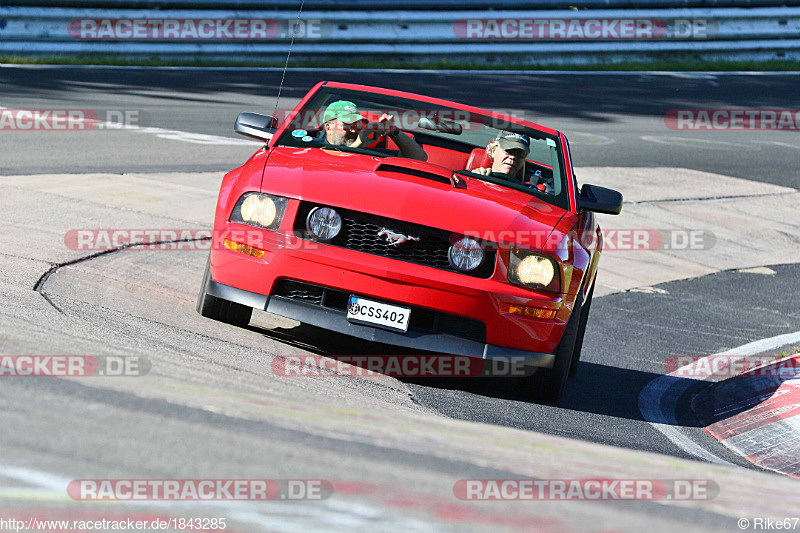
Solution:
[[[494,74],[291,71],[278,104],[294,107],[327,79],[424,92],[499,109],[564,131],[576,166],[675,167],[800,188],[800,142],[794,131],[673,131],[664,116],[674,109],[795,109],[800,74]],[[281,72],[225,70],[0,69],[7,108],[133,110],[151,126],[232,136],[242,110],[271,113]],[[424,91],[423,91],[424,89]],[[119,135],[117,135],[119,133]],[[62,172],[227,171],[246,149],[154,143],[152,136],[109,131],[89,151],[79,137],[38,143],[24,132],[4,140],[0,171]],[[33,145],[33,146],[32,146]],[[146,154],[143,157],[143,154]],[[679,164],[676,164],[679,163]]]

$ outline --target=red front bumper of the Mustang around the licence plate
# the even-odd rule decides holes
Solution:
[[[290,202],[286,218],[293,219],[296,206]],[[219,215],[219,213],[218,213]],[[237,253],[221,246],[212,246],[211,277],[230,288],[258,295],[257,303],[245,304],[276,314],[294,317],[321,327],[359,332],[355,336],[399,346],[437,350],[444,343],[425,340],[428,335],[376,332],[369,326],[350,324],[346,312],[331,315],[326,310],[311,312],[276,299],[276,287],[284,279],[318,285],[365,298],[416,307],[480,322],[485,329],[481,342],[467,334],[449,335],[458,353],[483,357],[492,353],[552,354],[563,336],[572,311],[574,296],[530,291],[510,285],[505,272],[498,267],[489,278],[477,278],[416,263],[399,261],[356,250],[299,239],[291,230],[291,222],[277,232],[253,231],[253,228],[217,220],[220,234],[229,233],[235,241],[264,251],[261,258]],[[219,296],[223,297],[223,296]],[[231,301],[237,301],[231,299]],[[280,303],[279,303],[280,302]],[[286,305],[284,305],[286,304]],[[527,306],[556,311],[552,319],[530,318],[512,314],[510,306]],[[291,307],[291,309],[289,309]],[[291,314],[289,314],[291,313]],[[312,318],[310,315],[314,315]],[[325,317],[325,318],[323,318]],[[412,314],[413,319],[413,314]],[[452,330],[450,333],[454,333]],[[351,334],[351,333],[348,333]],[[413,340],[409,340],[413,339]],[[536,356],[538,357],[538,356]]]

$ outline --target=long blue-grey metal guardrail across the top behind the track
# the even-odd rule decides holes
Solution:
[[[0,55],[279,61],[285,59],[294,33],[295,61],[347,57],[586,64],[656,58],[800,59],[800,7],[305,11],[299,23],[296,17],[296,12],[284,10],[2,7]]]

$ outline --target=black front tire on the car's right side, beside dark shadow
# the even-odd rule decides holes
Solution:
[[[575,351],[575,341],[578,336],[578,326],[581,321],[581,302],[577,301],[575,309],[567,321],[564,335],[558,343],[554,353],[553,368],[539,368],[532,376],[519,378],[522,395],[533,400],[555,403],[564,395],[569,377],[569,368],[572,365],[572,354]]]

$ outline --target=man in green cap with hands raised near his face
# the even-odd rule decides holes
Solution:
[[[353,102],[337,100],[325,109],[322,122],[328,144],[365,147],[369,134],[379,132],[392,138],[403,157],[418,161],[428,159],[425,150],[414,139],[401,133],[394,124],[394,117],[388,113],[381,115],[377,122],[370,123],[367,117],[358,112]]]

